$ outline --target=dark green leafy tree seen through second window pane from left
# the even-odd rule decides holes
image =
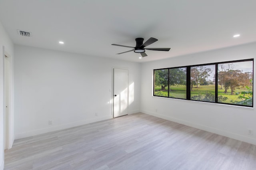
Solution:
[[[186,85],[186,70],[182,68],[169,69],[169,85]]]

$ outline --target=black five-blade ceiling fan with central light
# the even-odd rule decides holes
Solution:
[[[136,41],[136,47],[130,47],[130,46],[126,46],[126,45],[118,45],[118,44],[111,44],[111,45],[116,45],[116,46],[121,46],[121,47],[128,47],[128,48],[134,48],[132,50],[129,50],[129,51],[125,51],[125,52],[122,52],[122,53],[127,53],[127,52],[130,52],[130,51],[134,51],[135,53],[140,53],[142,57],[146,57],[148,56],[146,53],[145,53],[145,49],[148,49],[148,50],[155,50],[155,51],[169,51],[170,48],[144,48],[156,41],[158,41],[156,38],[149,38],[146,42],[143,43],[144,41],[144,38],[136,38],[135,39]],[[122,53],[118,53],[118,54],[122,54]]]

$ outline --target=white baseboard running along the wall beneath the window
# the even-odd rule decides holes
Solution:
[[[181,120],[181,119],[176,119],[174,117],[161,115],[161,114],[153,113],[153,112],[146,111],[146,110],[142,110],[141,112],[145,113],[145,114],[148,114],[148,115],[155,116],[155,117],[159,117],[159,118],[162,118],[162,119],[166,119],[168,121],[173,121],[173,122],[176,122],[176,123],[180,123],[182,125],[187,125],[189,127],[198,128],[198,129],[201,129],[201,130],[205,130],[205,131],[212,132],[212,133],[215,133],[215,134],[220,134],[222,136],[226,136],[226,137],[229,137],[229,138],[233,138],[233,139],[236,139],[236,140],[240,140],[240,141],[243,141],[243,142],[247,142],[247,143],[256,145],[256,139],[255,138],[250,138],[248,136],[243,136],[243,135],[240,135],[240,134],[224,131],[224,130],[213,128],[213,127],[208,127],[208,126],[205,126],[205,125],[196,124],[196,123],[189,122],[189,121],[184,121],[184,120]]]

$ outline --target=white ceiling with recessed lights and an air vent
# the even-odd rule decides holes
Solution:
[[[16,44],[145,62],[256,42],[255,7],[256,0],[0,0],[0,21]],[[171,49],[116,55],[130,48],[112,43],[135,46],[139,37]]]

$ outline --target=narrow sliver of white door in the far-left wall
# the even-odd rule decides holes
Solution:
[[[10,116],[10,61],[4,57],[4,149],[9,142],[9,116]]]

